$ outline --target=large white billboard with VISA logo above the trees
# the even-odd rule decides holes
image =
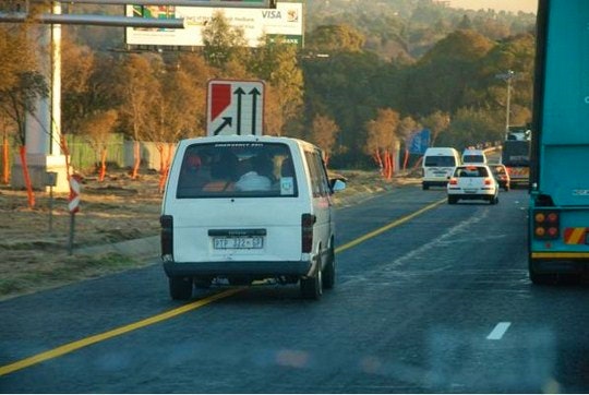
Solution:
[[[261,45],[264,35],[285,36],[302,46],[302,3],[278,2],[276,9],[214,7],[127,5],[127,16],[185,20],[185,28],[127,27],[128,45],[203,46],[202,29],[215,12],[223,12],[232,27],[242,28],[250,47]]]

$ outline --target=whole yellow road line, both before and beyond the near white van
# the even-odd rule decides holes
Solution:
[[[373,238],[375,236],[378,236],[382,232],[384,232],[384,231],[386,231],[386,230],[388,230],[390,228],[399,226],[399,225],[408,222],[409,219],[412,219],[412,218],[417,217],[418,215],[421,215],[421,214],[425,213],[426,211],[434,208],[435,206],[442,204],[446,200],[444,199],[444,200],[441,200],[438,202],[432,203],[432,204],[430,204],[430,205],[428,205],[428,206],[425,206],[425,207],[423,207],[423,208],[421,208],[421,210],[419,210],[419,211],[417,211],[417,212],[414,212],[412,214],[409,214],[409,215],[407,215],[407,216],[405,216],[402,218],[396,219],[396,220],[394,220],[394,222],[392,222],[392,223],[389,223],[389,224],[387,224],[387,225],[385,225],[385,226],[383,226],[383,227],[381,227],[381,228],[378,228],[376,230],[371,231],[370,234],[366,234],[366,235],[364,235],[362,237],[359,237],[356,240],[352,240],[352,241],[350,241],[350,242],[348,242],[348,243],[346,243],[344,246],[340,246],[340,247],[336,248],[335,252],[339,253],[339,252],[348,250],[348,249],[350,249],[350,248],[352,248],[354,246],[358,246],[361,242],[364,242],[364,241],[366,241],[366,240],[369,240],[369,239],[371,239],[371,238]],[[10,363],[10,364],[5,364],[3,367],[0,367],[0,376],[12,373],[12,372],[15,372],[17,370],[22,370],[22,369],[32,367],[34,364],[44,362],[44,361],[46,361],[48,359],[53,359],[53,358],[61,357],[61,356],[63,356],[65,354],[73,352],[75,350],[79,350],[81,348],[91,346],[93,344],[104,342],[104,340],[107,340],[109,338],[120,336],[120,335],[123,335],[125,333],[133,332],[133,331],[140,330],[140,328],[145,327],[145,326],[157,324],[157,323],[159,323],[161,321],[166,321],[166,320],[169,320],[169,319],[175,318],[177,315],[184,314],[184,313],[187,313],[189,311],[202,308],[203,306],[209,304],[209,303],[214,302],[215,300],[228,298],[231,295],[235,295],[237,292],[242,291],[243,289],[245,289],[245,288],[240,287],[240,288],[229,289],[229,290],[226,290],[224,292],[213,295],[213,296],[211,296],[208,298],[197,300],[197,301],[194,301],[192,303],[184,304],[184,306],[179,307],[179,308],[173,309],[173,310],[166,311],[166,312],[164,312],[161,314],[157,314],[157,315],[151,316],[148,319],[134,322],[134,323],[129,324],[129,325],[120,326],[120,327],[117,327],[115,330],[100,333],[98,335],[89,336],[89,337],[86,337],[86,338],[83,338],[83,339],[80,339],[80,340],[76,340],[76,342],[73,342],[73,343],[69,343],[69,344],[65,344],[63,346],[53,348],[51,350],[37,354],[37,355],[33,356],[33,357],[28,357],[28,358],[21,359],[20,361],[16,361],[16,362],[13,362],[13,363]]]

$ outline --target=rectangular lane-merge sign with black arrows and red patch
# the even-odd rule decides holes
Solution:
[[[211,80],[206,107],[207,135],[262,135],[264,82]]]

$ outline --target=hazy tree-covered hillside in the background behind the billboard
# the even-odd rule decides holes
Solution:
[[[291,2],[291,1],[289,1]],[[292,1],[294,2],[294,1]],[[435,0],[306,0],[305,32],[312,38],[321,25],[346,24],[364,36],[364,50],[383,59],[418,59],[456,28],[472,28],[491,39],[529,32],[536,23],[531,13],[472,11],[445,7]],[[68,4],[64,13],[121,15],[122,5]],[[68,26],[82,43],[95,49],[124,48],[124,28]]]

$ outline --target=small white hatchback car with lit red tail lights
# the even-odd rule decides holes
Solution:
[[[457,166],[448,179],[448,204],[458,200],[486,200],[490,204],[498,203],[498,183],[486,165]]]

